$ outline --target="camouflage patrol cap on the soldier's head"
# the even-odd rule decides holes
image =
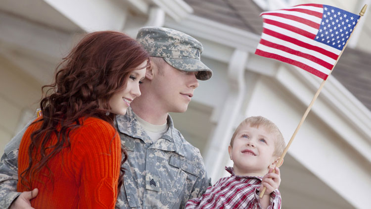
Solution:
[[[171,66],[198,72],[196,78],[208,80],[213,71],[201,62],[202,44],[193,37],[170,28],[140,28],[137,41],[150,56],[163,57]]]

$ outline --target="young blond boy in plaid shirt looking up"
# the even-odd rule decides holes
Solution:
[[[228,147],[233,168],[226,170],[232,175],[219,179],[201,197],[189,200],[185,209],[280,209],[279,169],[272,171],[284,148],[283,136],[272,121],[262,116],[246,118]],[[267,190],[259,198],[264,186]]]

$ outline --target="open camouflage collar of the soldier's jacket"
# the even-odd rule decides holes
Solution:
[[[141,139],[144,143],[152,143],[152,140],[149,138],[147,133],[139,124],[139,121],[134,115],[133,109],[129,107],[125,115],[116,115],[116,122],[118,131],[131,136],[133,138]],[[183,136],[180,132],[174,127],[173,119],[168,114],[167,123],[169,125],[168,130],[161,137],[166,139],[170,143],[174,143],[176,153],[181,156],[185,156],[185,151],[183,147]]]

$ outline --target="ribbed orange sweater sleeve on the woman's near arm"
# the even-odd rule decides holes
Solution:
[[[120,137],[107,122],[93,120],[79,130],[72,150],[80,184],[78,208],[113,209],[120,174]]]

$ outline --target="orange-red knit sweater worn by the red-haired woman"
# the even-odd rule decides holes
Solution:
[[[41,122],[28,127],[23,135],[18,156],[19,192],[27,191],[21,184],[20,173],[28,167],[28,147],[31,133]],[[52,136],[52,143],[56,136]],[[28,179],[39,194],[31,200],[36,209],[113,209],[117,198],[120,173],[121,141],[109,123],[87,118],[70,134],[71,146],[63,148],[34,178]],[[37,152],[40,159],[40,151]],[[51,179],[51,180],[50,180]]]

